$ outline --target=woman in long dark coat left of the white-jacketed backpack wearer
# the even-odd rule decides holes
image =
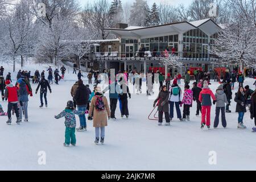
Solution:
[[[167,90],[167,86],[163,85],[162,89],[160,90],[158,97],[154,101],[153,107],[158,104],[158,125],[162,125],[163,122],[163,113],[164,117],[166,118],[166,126],[170,126],[170,115],[169,115],[169,98],[170,92]]]

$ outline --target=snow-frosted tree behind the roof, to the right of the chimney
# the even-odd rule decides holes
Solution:
[[[131,26],[147,26],[148,24],[148,5],[146,1],[136,0],[131,6],[130,25]]]

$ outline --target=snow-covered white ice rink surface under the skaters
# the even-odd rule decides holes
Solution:
[[[6,68],[6,76],[12,67],[5,64],[3,66]],[[31,70],[32,74],[35,69],[42,72],[43,67],[27,65],[27,70]],[[64,118],[55,119],[54,115],[65,108],[68,100],[72,100],[70,89],[76,76],[72,74],[71,69],[69,68],[69,73],[65,75],[65,80],[60,81],[60,85],[51,85],[52,93],[48,93],[47,109],[39,109],[39,94],[35,94],[36,85],[32,85],[34,96],[29,97],[28,102],[30,122],[16,125],[13,117],[12,125],[7,126],[7,117],[0,117],[1,170],[256,169],[256,134],[251,133],[254,123],[247,111],[244,118],[247,129],[237,129],[238,114],[234,112],[236,104],[233,100],[232,113],[226,114],[227,129],[223,129],[220,124],[218,129],[201,130],[200,117],[195,115],[196,104],[193,104],[191,109],[191,121],[177,121],[175,112],[171,126],[158,126],[156,121],[147,119],[153,108],[153,100],[148,99],[146,94],[132,94],[129,100],[129,119],[122,119],[117,108],[118,119],[108,122],[104,145],[94,144],[92,121],[87,121],[88,131],[76,133],[77,146],[63,147]],[[12,75],[16,77],[16,73]],[[245,85],[249,84],[254,88],[253,82],[253,79],[246,78]],[[215,92],[217,86],[217,82],[212,82],[210,88]],[[237,86],[236,84],[235,90]],[[0,104],[6,111],[7,102],[0,101]],[[214,108],[215,106],[212,106],[212,124]],[[46,152],[46,165],[39,165],[39,151]],[[210,165],[208,162],[210,151],[216,152],[216,165]]]

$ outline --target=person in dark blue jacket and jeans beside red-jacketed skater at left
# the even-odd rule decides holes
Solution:
[[[18,99],[19,99],[19,122],[22,122],[22,111],[24,111],[24,122],[28,122],[27,106],[28,106],[28,86],[23,79],[18,80],[19,90],[18,90]]]

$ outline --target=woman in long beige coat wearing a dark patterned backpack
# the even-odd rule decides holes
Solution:
[[[110,118],[110,110],[108,100],[103,96],[101,88],[97,86],[95,96],[90,102],[90,109],[88,120],[92,120],[93,112],[93,127],[95,127],[95,143],[98,144],[100,140],[100,130],[101,130],[101,144],[104,143],[105,137],[105,126],[108,126],[108,118]]]

